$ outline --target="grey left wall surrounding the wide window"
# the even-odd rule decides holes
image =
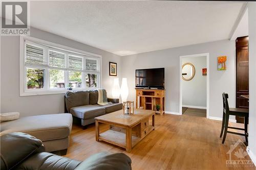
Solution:
[[[31,28],[31,36],[77,48],[102,56],[102,87],[109,96],[114,77],[109,76],[109,61],[117,63],[121,75],[121,58],[98,48],[85,45],[48,32]],[[1,112],[19,111],[20,116],[64,112],[64,94],[19,96],[19,37],[1,36]]]

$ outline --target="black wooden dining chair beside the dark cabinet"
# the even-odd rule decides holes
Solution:
[[[220,135],[220,137],[222,137],[222,134],[224,132],[222,143],[225,142],[227,133],[232,133],[232,134],[235,134],[235,135],[245,136],[245,141],[246,141],[246,145],[247,145],[248,144],[248,132],[247,131],[248,131],[249,109],[229,108],[228,101],[227,101],[228,94],[227,93],[222,93],[222,98],[223,98],[223,117],[222,117],[222,127],[221,127],[221,135]],[[244,117],[244,129],[243,128],[236,128],[236,127],[229,127],[228,126],[229,115]],[[229,129],[242,130],[242,131],[244,131],[244,134],[228,131],[227,130],[228,128]]]

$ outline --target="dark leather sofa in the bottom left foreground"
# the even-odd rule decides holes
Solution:
[[[14,132],[1,135],[1,170],[130,170],[131,159],[123,153],[98,153],[84,161],[44,152],[42,141]]]

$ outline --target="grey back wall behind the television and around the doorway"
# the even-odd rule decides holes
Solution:
[[[122,77],[127,78],[128,100],[135,101],[135,69],[165,67],[165,111],[179,112],[179,65],[180,57],[209,53],[210,55],[210,111],[214,118],[222,117],[222,92],[229,94],[229,106],[235,107],[236,70],[235,42],[221,40],[188,45],[166,50],[124,56],[122,58]],[[217,70],[217,57],[227,56],[227,70]]]

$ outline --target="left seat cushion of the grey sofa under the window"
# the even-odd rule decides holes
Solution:
[[[95,105],[85,105],[72,107],[70,109],[70,113],[78,118],[88,119],[105,114],[105,109],[104,107],[99,107]]]

